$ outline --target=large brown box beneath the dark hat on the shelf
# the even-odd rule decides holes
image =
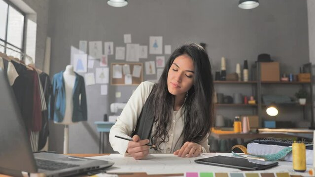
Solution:
[[[279,62],[261,62],[260,66],[261,81],[280,81]]]

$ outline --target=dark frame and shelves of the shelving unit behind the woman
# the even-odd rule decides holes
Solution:
[[[252,95],[255,96],[256,98],[256,103],[257,104],[215,104],[215,107],[252,107],[252,109],[254,109],[253,111],[257,111],[258,115],[258,120],[259,120],[259,126],[262,126],[262,116],[263,116],[263,109],[265,109],[266,104],[262,103],[262,87],[265,85],[301,85],[301,87],[303,89],[306,89],[307,87],[308,90],[310,90],[309,94],[312,95],[310,96],[310,99],[308,100],[306,105],[300,105],[300,104],[277,104],[280,107],[289,107],[289,106],[293,106],[293,107],[301,107],[303,108],[303,117],[305,119],[306,115],[308,114],[307,112],[307,108],[310,108],[311,110],[311,129],[314,129],[314,98],[313,98],[313,72],[312,72],[312,63],[306,63],[303,64],[303,68],[306,72],[311,73],[311,82],[262,82],[261,81],[261,76],[260,76],[260,68],[261,68],[261,63],[257,62],[256,65],[254,66],[256,68],[256,79],[257,81],[248,81],[248,82],[244,82],[244,81],[214,81],[214,85],[221,85],[221,84],[227,84],[227,85],[252,85],[251,89],[252,89]]]

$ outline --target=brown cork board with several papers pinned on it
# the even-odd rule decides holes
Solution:
[[[140,62],[110,63],[110,70],[111,85],[137,86],[142,82],[142,63]]]

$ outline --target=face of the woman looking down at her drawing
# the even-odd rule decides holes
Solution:
[[[183,95],[193,86],[194,63],[187,55],[174,59],[167,77],[167,87],[173,95]]]

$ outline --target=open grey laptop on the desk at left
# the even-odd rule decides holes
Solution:
[[[56,153],[33,153],[13,89],[0,68],[0,174],[65,177],[112,166],[113,162]]]

